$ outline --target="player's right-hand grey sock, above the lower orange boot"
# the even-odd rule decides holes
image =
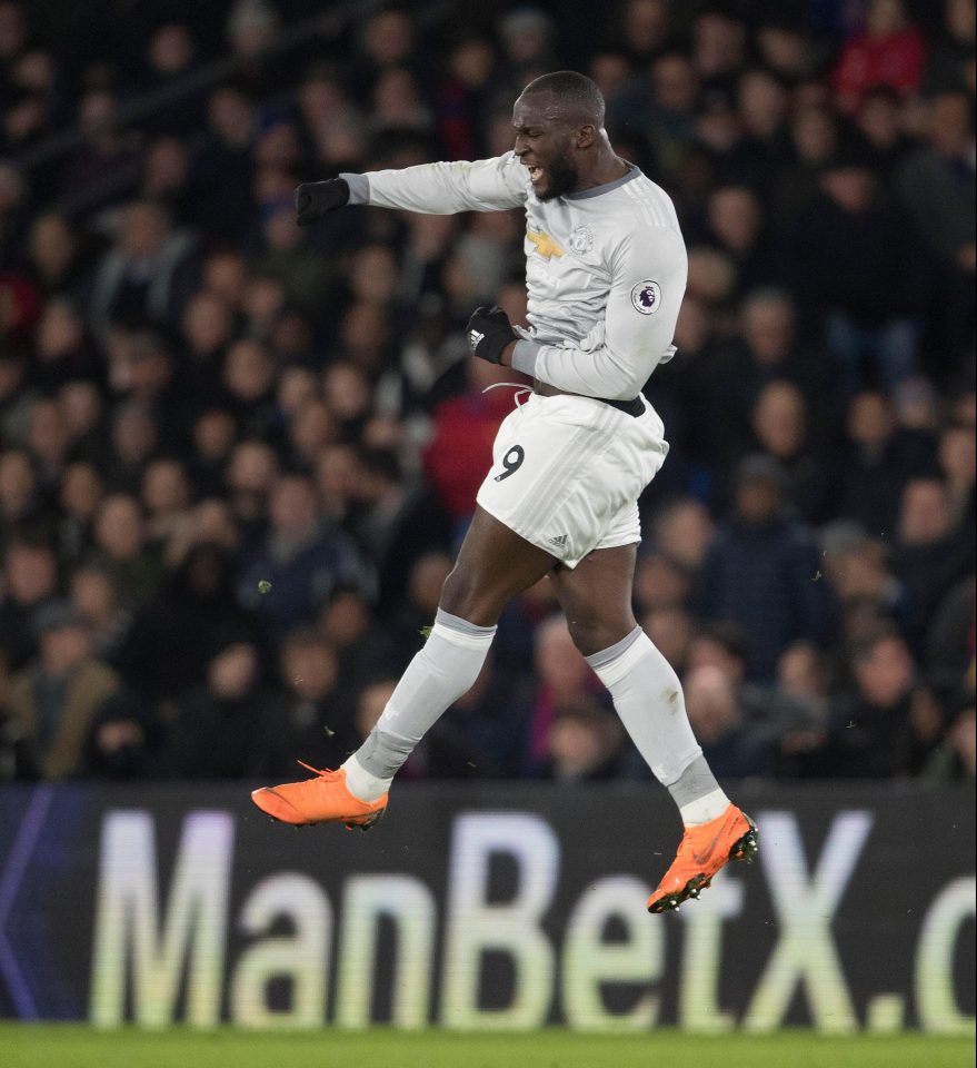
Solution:
[[[721,814],[729,799],[692,734],[681,683],[647,634],[636,626],[610,649],[588,656],[587,663],[610,691],[625,730],[668,789],[682,822],[706,823]]]

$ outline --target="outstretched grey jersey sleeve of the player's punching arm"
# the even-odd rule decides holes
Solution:
[[[350,204],[423,215],[505,211],[521,207],[529,196],[529,176],[512,152],[471,162],[420,164],[340,177],[349,185]]]

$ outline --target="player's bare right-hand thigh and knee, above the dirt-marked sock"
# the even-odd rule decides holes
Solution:
[[[637,555],[637,543],[596,548],[572,570],[551,573],[570,634],[585,656],[608,649],[637,625],[631,607]]]

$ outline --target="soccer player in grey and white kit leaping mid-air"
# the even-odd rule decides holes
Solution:
[[[296,191],[300,226],[347,204],[430,214],[525,207],[530,328],[514,328],[498,307],[476,308],[468,343],[535,387],[499,427],[430,636],[376,728],[338,770],[310,768],[315,778],[252,799],[286,823],[376,822],[400,765],[475,682],[505,605],[549,575],[575,643],[681,814],[678,854],[648,900],[664,912],[757,850],[756,827],[696,742],[678,676],[631,611],[637,501],[668,452],[641,387],[675,353],[685,244],[669,197],[615,155],[589,78],[537,78],[512,125],[515,147],[497,159],[346,174]]]

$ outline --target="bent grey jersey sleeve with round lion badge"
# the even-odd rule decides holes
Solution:
[[[632,230],[611,259],[604,322],[576,346],[519,340],[512,366],[568,393],[630,400],[675,352],[671,338],[687,275],[685,243],[677,230]]]

